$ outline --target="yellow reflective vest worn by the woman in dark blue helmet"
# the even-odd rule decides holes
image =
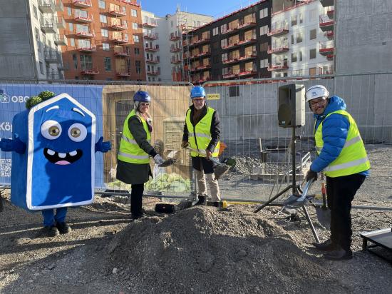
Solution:
[[[138,146],[138,143],[135,141],[135,138],[133,138],[133,135],[132,133],[130,133],[130,130],[128,128],[128,121],[133,116],[137,116],[135,110],[130,111],[130,113],[128,114],[127,118],[124,121],[123,136],[121,137],[120,148],[118,151],[117,158],[120,159],[120,161],[125,161],[129,163],[138,163],[138,164],[150,163],[150,156],[148,155],[148,153],[145,153],[145,151],[143,151],[143,149]],[[142,121],[143,128],[145,130],[145,133],[147,134],[147,141],[150,142],[151,134],[150,131],[148,130],[147,122],[143,117],[140,116],[138,117]]]

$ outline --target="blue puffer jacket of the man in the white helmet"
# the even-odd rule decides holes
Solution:
[[[310,166],[310,169],[312,171],[316,171],[317,173],[324,170],[324,168],[329,166],[329,163],[334,161],[339,156],[344,143],[346,143],[347,133],[349,132],[350,128],[349,120],[345,116],[342,116],[338,113],[331,114],[331,116],[325,118],[329,113],[339,110],[346,110],[346,103],[344,103],[342,98],[338,96],[332,96],[329,100],[329,104],[325,108],[324,113],[314,114],[314,118],[316,119],[315,129],[317,129],[321,121],[324,120],[324,146],[319,156],[315,161],[313,161],[313,163],[311,163]],[[368,171],[363,171],[360,174],[368,176],[368,173]]]

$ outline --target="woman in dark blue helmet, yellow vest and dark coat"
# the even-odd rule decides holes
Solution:
[[[132,219],[143,217],[142,197],[144,183],[152,176],[150,156],[157,165],[163,158],[151,146],[152,118],[148,110],[151,98],[145,91],[133,96],[133,111],[125,118],[118,150],[116,178],[131,185],[130,213]]]

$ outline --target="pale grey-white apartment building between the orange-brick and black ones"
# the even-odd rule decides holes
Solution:
[[[212,21],[212,16],[177,9],[164,17],[142,11],[147,81],[182,81],[182,32]]]

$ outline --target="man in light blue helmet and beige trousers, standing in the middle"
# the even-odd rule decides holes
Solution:
[[[220,147],[220,120],[217,111],[205,103],[205,89],[195,86],[190,91],[192,106],[187,110],[182,136],[182,148],[190,146],[192,167],[197,182],[196,205],[207,201],[207,182],[210,186],[211,201],[220,207],[220,189],[214,175],[214,165],[210,157],[217,157]],[[197,152],[196,152],[197,151]]]

